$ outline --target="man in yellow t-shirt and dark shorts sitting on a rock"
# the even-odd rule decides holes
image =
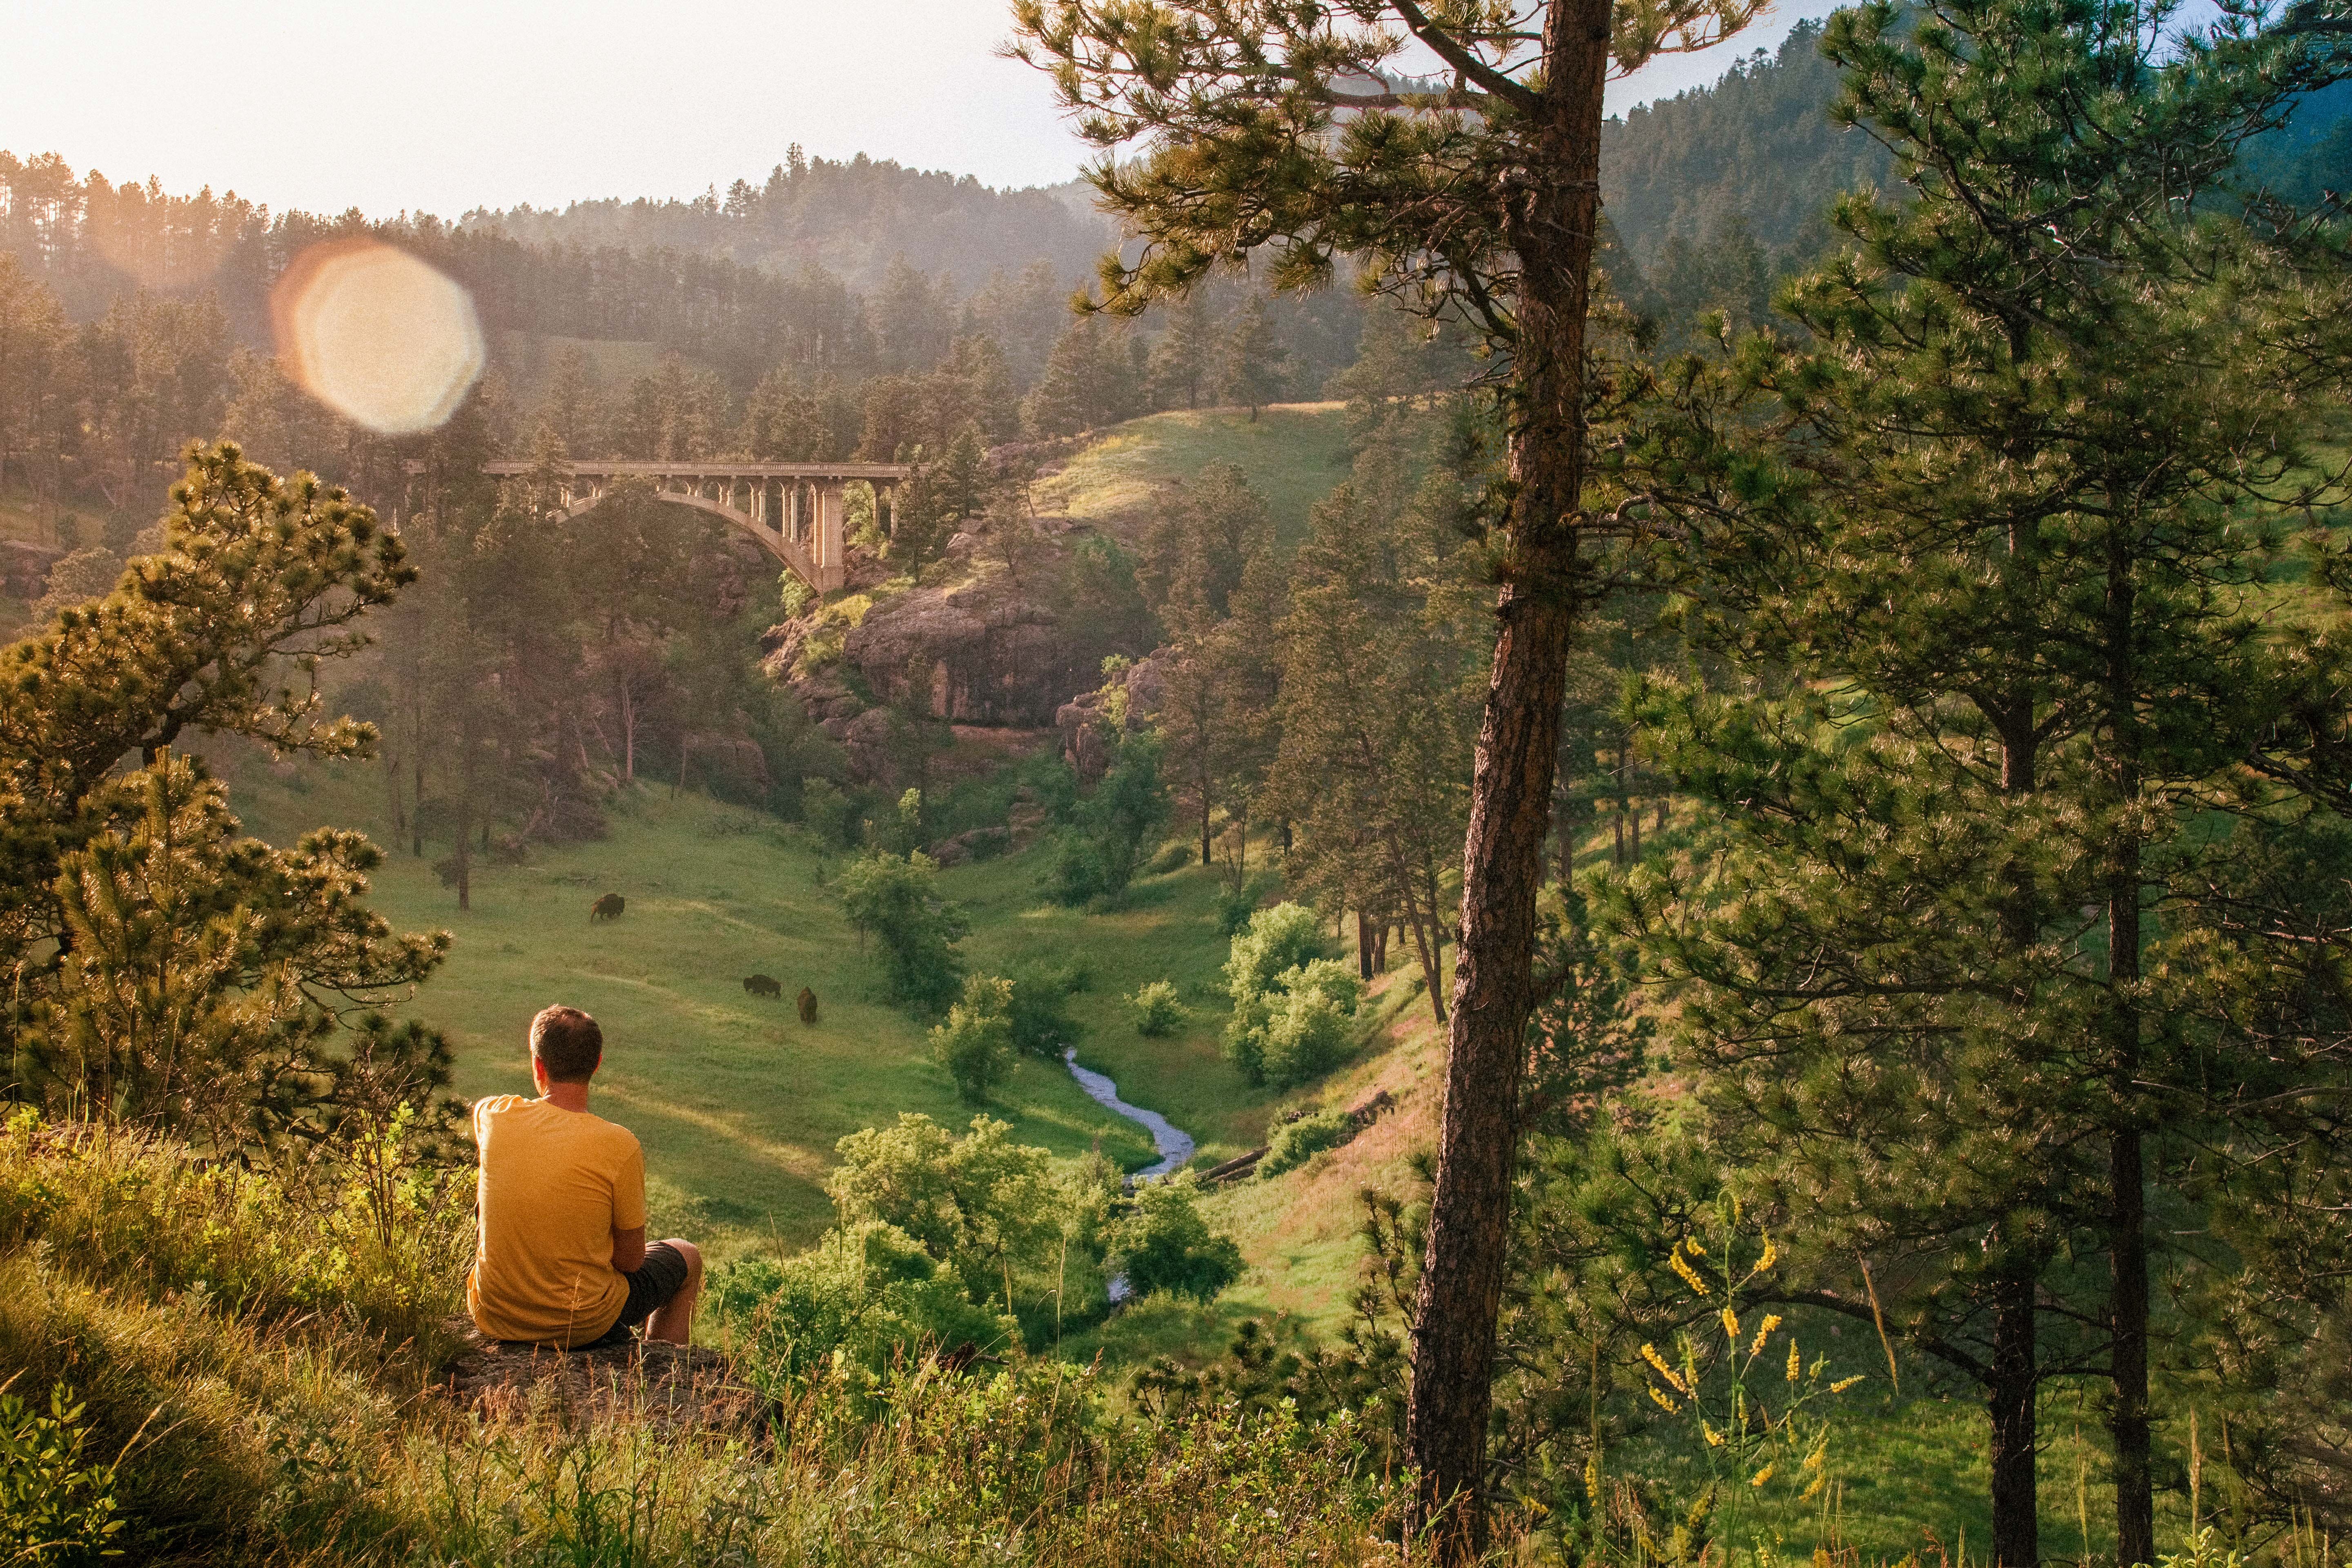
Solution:
[[[691,1241],[644,1244],[644,1152],[628,1128],[588,1114],[604,1032],[576,1006],[532,1020],[539,1098],[473,1105],[482,1154],[466,1309],[494,1340],[597,1349],[687,1342],[703,1255]]]

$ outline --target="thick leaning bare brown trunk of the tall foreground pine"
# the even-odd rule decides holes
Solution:
[[[1406,1458],[1418,1472],[1406,1523],[1446,1566],[1475,1561],[1486,1542],[1486,1420],[1534,1004],[1536,891],[1583,597],[1583,355],[1609,14],[1609,0],[1555,0],[1545,9],[1538,146],[1529,155],[1536,167],[1508,197],[1508,237],[1522,266],[1505,409],[1517,496],[1470,785],[1446,1098],[1406,1410]]]

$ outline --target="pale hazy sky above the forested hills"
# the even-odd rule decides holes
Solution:
[[[1830,0],[1790,0],[1736,49]],[[270,207],[456,216],[757,181],[793,141],[990,186],[1087,148],[1000,0],[0,0],[0,148]],[[1613,108],[1717,78],[1668,61]]]

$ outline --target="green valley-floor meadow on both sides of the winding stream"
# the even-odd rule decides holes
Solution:
[[[240,769],[235,788],[254,832],[285,842],[334,820],[388,844],[369,809],[372,769],[268,783],[256,773]],[[929,1060],[924,1027],[877,999],[880,966],[858,952],[818,886],[821,870],[797,830],[654,790],[616,816],[604,842],[485,867],[466,914],[428,863],[407,853],[390,853],[374,903],[402,929],[456,933],[449,964],[412,1011],[454,1037],[459,1093],[527,1093],[532,1013],[548,1001],[583,1006],[609,1041],[600,1105],[644,1140],[656,1225],[739,1246],[755,1237],[802,1246],[830,1215],[821,1182],[837,1138],[901,1110],[955,1126],[971,1117]],[[1225,943],[1211,914],[1214,877],[1200,867],[1155,877],[1129,910],[1082,914],[1042,905],[1035,856],[1014,856],[943,872],[943,891],[971,914],[971,964],[993,971],[1084,954],[1094,987],[1073,999],[1082,1058],[1200,1138],[1204,1157],[1254,1147],[1270,1095],[1244,1086],[1216,1048]],[[628,914],[590,924],[588,903],[604,891],[623,893]],[[786,1001],[748,997],[741,980],[750,973],[776,976]],[[1181,1034],[1141,1039],[1122,997],[1157,978],[1174,978],[1192,1013]],[[818,994],[816,1027],[793,1013],[802,985]],[[988,1112],[1056,1154],[1101,1138],[1127,1166],[1155,1157],[1138,1126],[1087,1100],[1049,1063],[1023,1060]]]

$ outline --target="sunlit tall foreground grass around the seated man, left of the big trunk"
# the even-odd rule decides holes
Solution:
[[[129,1561],[1390,1563],[1348,1422],[1105,1415],[1094,1375],[818,1375],[748,1432],[435,1392],[466,1173],[216,1166],[106,1128],[0,1135],[0,1378],[87,1399]],[[381,1225],[383,1194],[400,1204]],[[880,1413],[875,1415],[875,1410]]]

